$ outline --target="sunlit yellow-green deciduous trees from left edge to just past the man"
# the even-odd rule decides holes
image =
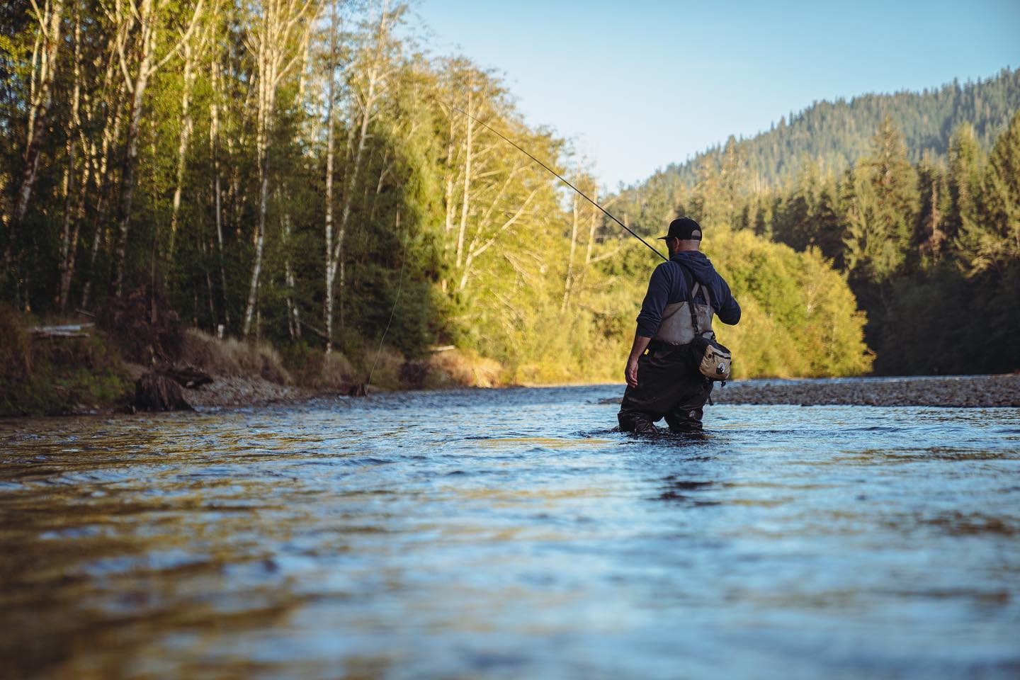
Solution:
[[[4,4],[0,297],[66,318],[149,286],[194,326],[312,361],[371,364],[385,334],[511,380],[620,379],[657,260],[459,113],[597,193],[498,77],[406,19],[386,0]],[[716,233],[747,309],[723,335],[740,374],[868,369],[839,273]]]

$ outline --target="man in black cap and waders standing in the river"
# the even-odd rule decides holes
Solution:
[[[617,418],[620,431],[653,433],[653,423],[666,418],[672,432],[702,429],[702,407],[712,391],[712,382],[699,371],[690,343],[695,327],[688,305],[695,305],[703,334],[712,332],[712,316],[734,325],[741,320],[729,285],[712,267],[701,247],[702,229],[693,219],[681,217],[660,237],[669,248],[663,262],[648,282],[648,294],[638,315],[638,332],[627,359],[627,388]]]

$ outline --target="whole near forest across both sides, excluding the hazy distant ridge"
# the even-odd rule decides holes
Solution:
[[[293,362],[455,346],[507,382],[619,380],[658,258],[476,118],[641,233],[701,220],[745,309],[718,329],[738,376],[866,373],[866,324],[876,368],[957,370],[883,352],[950,327],[926,305],[974,285],[1016,319],[1015,117],[987,153],[964,126],[948,161],[916,162],[886,120],[866,159],[838,173],[805,159],[776,189],[749,179],[731,140],[692,187],[609,196],[568,140],[524,123],[498,73],[430,52],[403,4],[0,12],[0,298],[19,315],[96,313],[148,287],[194,327]],[[938,356],[1007,343],[1005,322],[987,327]],[[960,368],[1015,367],[1007,350]]]

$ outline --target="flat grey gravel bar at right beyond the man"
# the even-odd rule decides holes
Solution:
[[[1020,374],[854,380],[741,380],[716,387],[717,404],[1020,407]]]

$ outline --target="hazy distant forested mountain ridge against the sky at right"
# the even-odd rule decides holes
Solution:
[[[785,116],[765,133],[736,140],[737,152],[747,158],[751,177],[762,187],[778,187],[793,178],[805,158],[840,171],[867,153],[879,122],[890,116],[904,135],[912,161],[925,151],[945,156],[954,128],[962,122],[974,126],[978,142],[987,149],[1020,109],[1020,68],[1004,68],[997,75],[976,83],[959,81],[934,90],[866,94],[849,102],[815,102],[799,113]],[[704,163],[719,166],[724,145],[717,145],[693,158],[672,163],[630,189],[661,175],[677,175],[693,187]]]

